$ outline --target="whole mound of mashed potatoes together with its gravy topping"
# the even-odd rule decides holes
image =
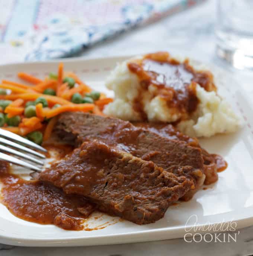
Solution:
[[[115,99],[104,113],[129,121],[176,122],[189,136],[234,132],[241,125],[224,99],[217,95],[208,70],[189,60],[180,62],[158,52],[126,60],[106,81]]]

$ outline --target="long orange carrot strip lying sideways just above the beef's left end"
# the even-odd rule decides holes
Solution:
[[[44,110],[44,116],[46,118],[51,118],[54,116],[57,116],[58,114],[61,114],[63,112],[74,112],[74,111],[81,111],[81,112],[88,112],[93,110],[94,108],[94,104],[88,104],[88,103],[84,103],[84,104],[69,104],[69,105],[64,105],[58,108],[54,108],[51,110]]]

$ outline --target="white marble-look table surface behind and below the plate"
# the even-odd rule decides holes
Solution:
[[[167,50],[173,54],[214,63],[231,73],[241,86],[253,94],[253,73],[235,70],[215,56],[215,0],[164,18],[117,38],[100,43],[82,53],[82,58],[107,57]],[[24,231],[25,232],[25,231]],[[0,244],[1,256],[149,256],[149,255],[250,255],[253,254],[253,226],[240,230],[237,242],[186,243],[183,239],[148,243],[118,244],[68,248],[28,248]]]

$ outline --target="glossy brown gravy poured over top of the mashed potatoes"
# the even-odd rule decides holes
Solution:
[[[155,86],[157,90],[153,97],[159,95],[164,98],[168,107],[174,109],[175,113],[180,112],[183,117],[196,110],[197,83],[206,91],[216,91],[211,72],[196,71],[190,66],[189,60],[180,63],[166,52],[147,54],[141,61],[128,63],[128,69],[139,77],[142,89]],[[134,110],[141,114],[142,120],[146,120],[142,98],[140,91],[134,100]]]

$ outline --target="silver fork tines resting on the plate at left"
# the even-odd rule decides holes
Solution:
[[[21,143],[22,145],[18,144],[17,142]],[[15,133],[6,131],[4,129],[0,129],[0,160],[7,161],[15,165],[20,165],[29,168],[33,171],[41,172],[41,168],[44,165],[44,161],[42,160],[45,159],[46,157],[45,155],[36,152],[33,149],[36,149],[41,152],[47,152],[45,148],[42,148],[41,146],[31,142],[28,139],[25,139],[19,135],[16,135]],[[17,150],[23,152],[19,152]],[[12,157],[11,155],[4,154],[3,152],[15,155],[21,159]],[[33,164],[29,164],[28,162],[23,161],[22,159],[38,164],[40,167],[37,167],[36,165]]]

